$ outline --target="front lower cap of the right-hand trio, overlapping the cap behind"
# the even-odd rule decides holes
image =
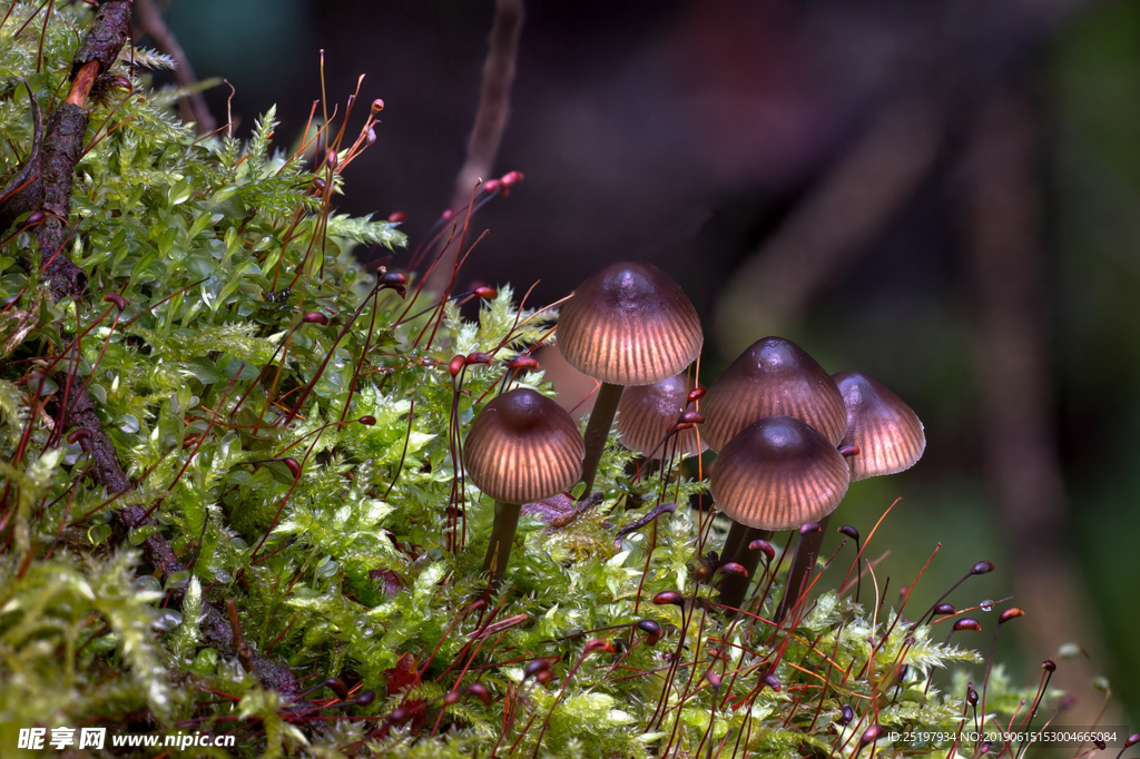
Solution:
[[[712,465],[712,498],[733,521],[762,530],[819,522],[847,492],[847,463],[819,432],[769,416],[728,441]]]

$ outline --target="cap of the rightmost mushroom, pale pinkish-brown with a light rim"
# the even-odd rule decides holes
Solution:
[[[860,372],[840,372],[833,379],[847,407],[842,443],[860,451],[847,457],[853,481],[895,474],[922,458],[922,422],[898,395]]]

